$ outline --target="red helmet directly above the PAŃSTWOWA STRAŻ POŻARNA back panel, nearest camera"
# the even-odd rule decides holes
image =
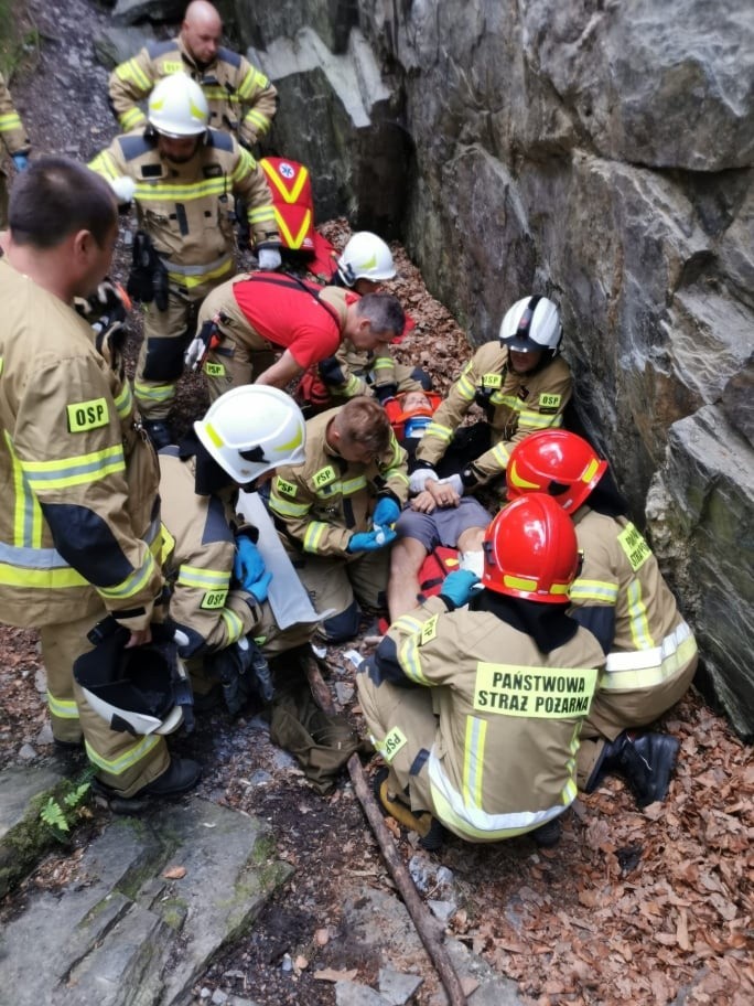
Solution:
[[[497,593],[564,604],[579,559],[568,514],[550,496],[528,493],[505,506],[487,527],[482,582]]]

